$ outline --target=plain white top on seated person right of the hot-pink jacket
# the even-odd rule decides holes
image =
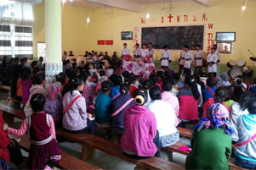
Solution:
[[[156,116],[156,126],[159,136],[174,134],[176,132],[174,126],[174,109],[168,102],[161,100],[151,101],[151,104],[149,104],[147,108]]]

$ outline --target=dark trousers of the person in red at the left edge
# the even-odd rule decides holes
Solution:
[[[8,150],[11,156],[11,161],[14,162],[16,165],[20,165],[20,163],[23,162],[23,156],[20,151],[20,145],[18,142],[14,139],[12,139],[14,142],[14,146],[8,146]]]

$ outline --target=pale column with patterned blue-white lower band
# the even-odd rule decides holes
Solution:
[[[62,72],[61,0],[44,0],[47,85]]]

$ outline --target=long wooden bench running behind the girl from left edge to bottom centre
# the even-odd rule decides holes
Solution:
[[[9,106],[0,103],[0,111],[9,114],[15,118],[25,119],[26,116],[23,111],[19,109],[14,109]],[[111,142],[110,140],[105,140],[100,137],[94,136],[92,134],[81,133],[81,134],[71,134],[65,132],[64,129],[56,129],[56,134],[64,137],[72,142],[77,142],[82,145],[82,160],[87,161],[94,158],[95,149],[103,151],[112,156],[116,156],[125,160],[127,162],[132,162],[137,165],[137,168],[151,168],[151,169],[184,169],[184,167],[175,164],[174,162],[168,162],[159,157],[153,156],[148,159],[134,159],[128,157],[122,151],[121,145]],[[21,140],[22,141],[22,140]],[[27,143],[27,142],[24,142]],[[21,142],[22,145],[25,145]],[[27,147],[27,144],[26,144]],[[140,163],[141,162],[141,163]],[[75,168],[73,168],[75,169]],[[79,168],[81,169],[81,168]]]

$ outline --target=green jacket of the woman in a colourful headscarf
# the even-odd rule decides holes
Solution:
[[[225,129],[194,130],[191,148],[185,169],[230,169],[231,135],[225,134]]]

